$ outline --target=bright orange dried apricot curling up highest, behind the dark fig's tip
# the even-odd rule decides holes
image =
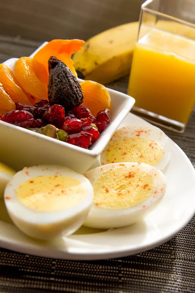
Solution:
[[[56,56],[77,76],[71,56],[80,51],[84,43],[82,40],[53,40],[42,47],[33,58],[42,63],[48,71],[48,59],[50,56]]]

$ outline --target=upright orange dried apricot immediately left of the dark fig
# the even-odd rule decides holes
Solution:
[[[48,100],[48,73],[43,64],[31,57],[21,57],[16,63],[14,74],[28,97],[31,97],[32,104],[41,99]]]

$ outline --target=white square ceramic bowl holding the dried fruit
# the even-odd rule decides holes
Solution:
[[[17,60],[12,58],[4,63],[14,70]],[[96,161],[117,127],[135,104],[135,99],[128,95],[112,89],[108,91],[112,103],[111,123],[90,149],[70,145],[0,121],[0,161],[16,170],[36,164],[58,164],[84,173]]]

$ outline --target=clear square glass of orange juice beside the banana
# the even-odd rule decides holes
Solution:
[[[141,6],[128,94],[134,112],[183,132],[195,104],[195,0]]]

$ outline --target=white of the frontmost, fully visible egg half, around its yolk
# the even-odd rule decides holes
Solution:
[[[56,172],[77,179],[81,183],[86,190],[86,196],[81,203],[55,212],[29,209],[20,203],[16,195],[20,184],[37,176],[56,175]],[[60,235],[67,236],[78,230],[89,213],[93,196],[93,187],[83,175],[67,167],[39,165],[24,167],[14,175],[5,188],[4,201],[11,219],[21,231],[31,237],[48,240]]]

